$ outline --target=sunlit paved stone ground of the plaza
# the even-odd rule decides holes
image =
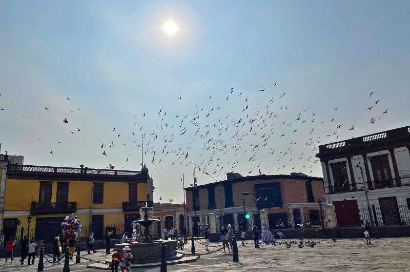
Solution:
[[[279,240],[280,241],[280,240]],[[292,240],[286,240],[292,241]],[[297,241],[297,240],[293,240]],[[239,262],[232,262],[232,255],[223,254],[223,250],[214,254],[201,256],[194,263],[178,264],[168,266],[168,271],[410,271],[410,238],[386,238],[373,240],[373,245],[366,245],[364,239],[339,239],[320,241],[315,247],[298,248],[292,245],[261,245],[257,249],[247,241],[247,246],[239,248]],[[218,244],[218,243],[215,243]],[[215,245],[213,244],[213,245]],[[205,252],[204,246],[195,244],[196,252]],[[213,247],[211,249],[217,249]],[[190,252],[188,243],[184,251]],[[81,255],[86,252],[81,252]],[[90,259],[105,260],[106,255],[101,253],[85,255]],[[36,259],[37,263],[38,259]],[[16,264],[3,265],[4,259],[0,260],[0,271],[36,271],[37,266],[20,266],[18,258]],[[70,263],[71,272],[96,272],[102,271],[87,268],[91,262]],[[60,272],[62,265],[51,266],[45,262],[45,271]],[[158,268],[133,269],[132,271],[159,271]]]

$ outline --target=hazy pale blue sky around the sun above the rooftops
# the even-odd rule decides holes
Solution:
[[[25,164],[140,169],[135,146],[147,133],[155,201],[182,201],[182,173],[189,186],[202,160],[198,184],[213,181],[202,172],[210,158],[218,180],[257,165],[321,177],[318,141],[409,125],[408,14],[408,1],[2,1],[2,152]],[[162,30],[170,19],[180,28],[171,37]]]

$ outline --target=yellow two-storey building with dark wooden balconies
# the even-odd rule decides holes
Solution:
[[[145,165],[141,171],[54,167],[12,164],[8,157],[0,157],[4,239],[20,239],[29,230],[30,237],[50,242],[72,212],[83,225],[81,237],[90,230],[97,239],[109,229],[119,235],[132,230],[139,208],[150,201]]]

